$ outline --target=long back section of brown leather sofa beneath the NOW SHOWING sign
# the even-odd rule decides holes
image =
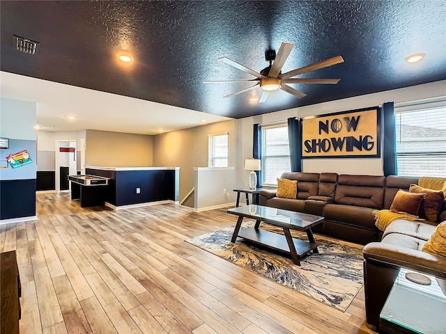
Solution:
[[[389,209],[399,189],[408,190],[418,177],[337,175],[336,173],[284,173],[282,178],[298,181],[296,199],[278,198],[276,190],[262,190],[260,204],[323,216],[314,232],[367,244],[380,241],[382,232],[371,213]],[[446,220],[446,211],[440,221]]]

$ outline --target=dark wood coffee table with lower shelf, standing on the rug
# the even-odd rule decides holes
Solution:
[[[291,255],[291,259],[298,266],[300,266],[299,259],[303,255],[310,252],[318,253],[318,246],[316,241],[314,241],[312,227],[322,223],[323,217],[321,216],[301,214],[300,212],[263,207],[261,205],[235,207],[227,212],[238,216],[231,242],[236,242],[237,237],[241,237],[254,244],[278,250]],[[245,228],[240,231],[240,226],[245,217],[255,219],[256,224],[254,228]],[[285,235],[261,230],[259,227],[262,221],[270,225],[280,226],[283,228]],[[307,232],[308,241],[293,239],[290,230]]]

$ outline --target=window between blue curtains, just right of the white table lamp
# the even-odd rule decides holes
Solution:
[[[286,124],[262,126],[261,184],[276,185],[277,178],[291,172],[288,127]]]

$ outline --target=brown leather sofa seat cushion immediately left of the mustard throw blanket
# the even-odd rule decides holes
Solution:
[[[369,207],[328,204],[323,208],[323,217],[325,220],[339,221],[341,223],[375,230],[375,217],[371,213],[372,211],[374,209]]]

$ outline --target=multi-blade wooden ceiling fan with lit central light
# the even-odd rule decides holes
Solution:
[[[318,63],[313,63],[311,65],[307,65],[304,67],[296,68],[295,70],[285,72],[282,74],[282,66],[284,65],[286,59],[288,58],[289,54],[291,53],[291,50],[293,49],[294,45],[290,43],[282,42],[282,45],[280,45],[279,52],[276,52],[274,50],[267,50],[265,53],[266,61],[270,62],[270,65],[268,67],[265,67],[263,70],[260,71],[260,73],[251,70],[250,68],[241,65],[237,63],[236,61],[233,61],[232,59],[221,57],[219,58],[220,61],[223,61],[224,63],[231,65],[233,67],[236,67],[238,70],[241,70],[243,72],[249,73],[256,77],[256,79],[252,80],[217,80],[217,81],[204,81],[205,84],[218,84],[218,83],[224,83],[224,82],[256,82],[254,86],[250,86],[248,88],[238,90],[235,93],[231,93],[229,95],[226,95],[224,97],[231,97],[234,95],[238,95],[241,93],[245,93],[249,90],[253,90],[254,88],[257,88],[260,86],[262,89],[262,95],[259,99],[259,103],[265,102],[268,98],[268,94],[274,90],[282,89],[286,93],[290,93],[294,95],[295,97],[301,98],[306,96],[305,93],[302,93],[300,90],[297,90],[295,88],[292,88],[291,86],[288,86],[287,84],[337,84],[340,79],[305,79],[305,78],[293,78],[296,75],[304,74],[307,72],[312,72],[315,70],[320,70],[324,67],[329,67],[332,65],[336,65],[339,63],[344,63],[344,59],[341,56],[336,56],[333,58],[325,59],[325,61],[319,61]]]

